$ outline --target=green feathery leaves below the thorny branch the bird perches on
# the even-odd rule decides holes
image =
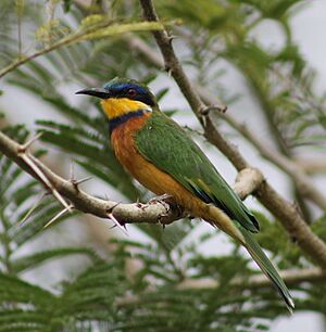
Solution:
[[[4,131],[21,142],[27,139],[22,126]],[[7,191],[1,191],[0,221],[5,232],[1,234],[4,254],[0,273],[0,331],[238,331],[239,327],[242,331],[258,331],[254,318],[267,319],[284,310],[273,291],[248,294],[242,288],[229,284],[233,277],[252,274],[237,247],[233,259],[213,258],[202,256],[197,250],[210,238],[203,237],[191,245],[185,243],[195,227],[189,221],[165,230],[142,227],[152,239],[151,244],[115,241],[114,255],[105,259],[88,247],[54,247],[17,256],[21,245],[41,237],[42,225],[60,206],[52,199],[40,203],[27,222],[18,226],[30,207],[30,203],[25,203],[33,202],[39,184],[27,180],[26,186],[17,187],[15,181],[17,174],[23,175],[22,170],[3,156],[0,165],[2,175],[15,175],[11,183],[3,182]],[[16,204],[15,214],[10,214],[12,207],[8,205],[12,196],[10,204]],[[72,255],[88,257],[89,267],[62,282],[59,293],[21,277],[49,260]],[[130,258],[140,261],[141,267],[128,279],[125,266]],[[220,285],[213,290],[177,286],[185,279],[208,277],[218,280]],[[244,307],[248,303],[250,309]],[[256,305],[264,310],[254,310]]]

